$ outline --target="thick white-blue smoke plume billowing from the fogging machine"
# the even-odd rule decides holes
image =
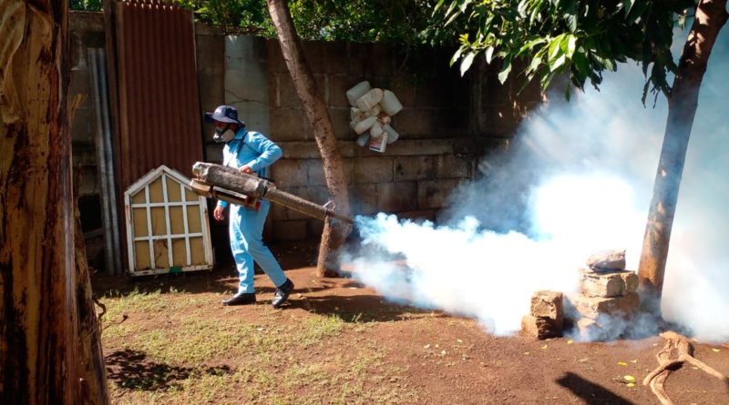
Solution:
[[[685,33],[683,33],[685,37]],[[683,44],[683,39],[676,41]],[[714,47],[693,124],[663,289],[666,319],[729,340],[729,29]],[[577,268],[626,248],[637,269],[667,107],[642,106],[640,68],[601,91],[556,100],[524,120],[507,152],[485,157],[436,227],[357,218],[354,274],[390,299],[479,319],[510,334],[537,289],[571,292]]]

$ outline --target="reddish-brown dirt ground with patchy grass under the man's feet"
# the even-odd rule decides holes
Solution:
[[[280,310],[264,275],[256,305],[221,306],[236,286],[231,268],[96,277],[113,403],[659,403],[642,380],[658,364],[660,337],[495,337],[472,319],[389,303],[351,278],[316,278],[314,245],[273,250],[296,285]],[[729,375],[728,344],[693,345]],[[729,404],[729,384],[692,366],[666,390],[676,404]]]

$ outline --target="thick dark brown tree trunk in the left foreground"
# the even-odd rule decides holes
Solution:
[[[67,132],[68,2],[0,7],[0,403],[79,389]]]

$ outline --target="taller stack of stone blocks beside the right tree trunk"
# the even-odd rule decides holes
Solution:
[[[638,276],[625,269],[625,250],[593,254],[580,269],[580,294],[570,298],[580,338],[615,339],[641,306]]]

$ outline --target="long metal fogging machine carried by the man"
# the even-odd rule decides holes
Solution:
[[[247,207],[254,204],[254,201],[263,198],[313,218],[331,217],[354,224],[352,218],[337,214],[331,207],[331,202],[323,206],[314,204],[279,190],[269,180],[241,173],[240,170],[232,167],[197,162],[192,166],[192,175],[194,177],[190,181],[190,187],[203,197],[217,198]]]

